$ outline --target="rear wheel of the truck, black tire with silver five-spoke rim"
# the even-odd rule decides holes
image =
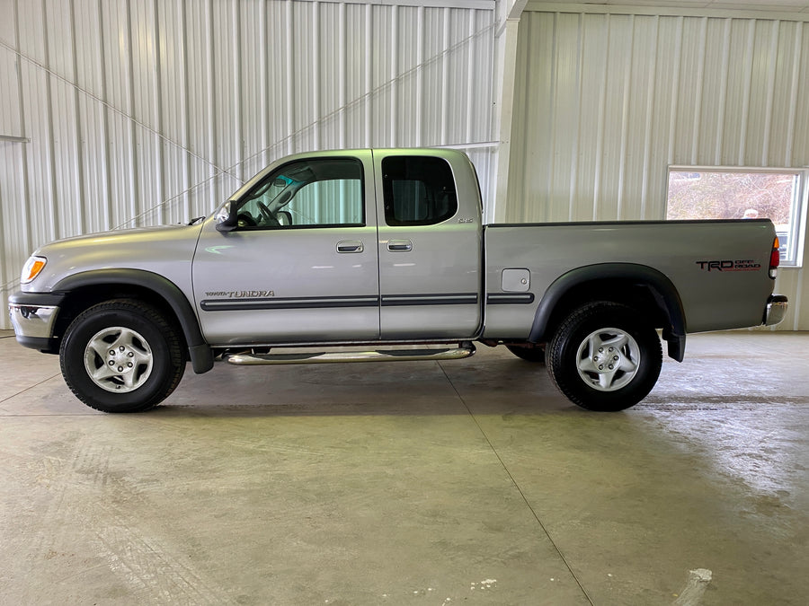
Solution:
[[[547,370],[568,400],[588,410],[635,406],[660,376],[662,348],[653,325],[626,305],[588,303],[548,344]]]

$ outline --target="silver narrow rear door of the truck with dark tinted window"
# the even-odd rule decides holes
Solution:
[[[381,337],[475,337],[481,323],[482,246],[471,164],[458,153],[395,150],[375,151],[374,168]],[[459,192],[458,177],[474,187]],[[459,193],[475,199],[459,205]]]

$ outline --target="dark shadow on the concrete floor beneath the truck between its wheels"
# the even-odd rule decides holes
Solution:
[[[189,369],[190,371],[190,369]],[[218,364],[187,373],[161,416],[543,414],[581,411],[541,364],[512,356],[465,361],[318,364],[262,368]]]

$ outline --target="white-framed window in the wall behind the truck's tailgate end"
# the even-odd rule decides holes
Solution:
[[[801,241],[805,171],[669,167],[667,219],[769,219],[781,261],[795,265]]]

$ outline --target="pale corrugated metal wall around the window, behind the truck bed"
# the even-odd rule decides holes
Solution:
[[[665,218],[670,164],[809,165],[804,22],[526,12],[516,73],[511,222]],[[809,329],[804,269],[777,289]]]

